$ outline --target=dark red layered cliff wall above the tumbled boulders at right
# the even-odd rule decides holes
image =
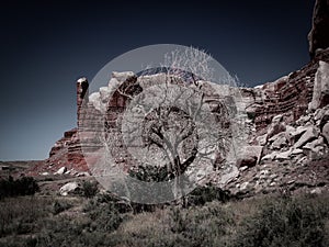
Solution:
[[[314,102],[311,103],[314,105],[316,101],[320,101],[322,106],[326,105],[327,63],[329,63],[329,49],[319,53],[300,70],[274,82],[253,89],[241,89],[248,102],[246,111],[254,117],[257,130],[260,131],[271,124],[272,119],[279,114],[283,114],[287,123],[296,121],[309,109],[310,102]],[[314,91],[319,93],[316,97],[319,99],[313,100]],[[318,106],[320,105],[310,106],[310,109],[316,110]]]

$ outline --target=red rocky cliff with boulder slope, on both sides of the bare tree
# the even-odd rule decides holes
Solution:
[[[315,5],[309,34],[311,60],[306,66],[274,82],[239,89],[241,105],[248,115],[248,144],[238,151],[234,169],[215,167],[200,179],[202,183],[213,182],[245,195],[285,188],[315,192],[329,189],[328,7],[326,0],[318,0]],[[90,96],[87,79],[79,79],[77,128],[66,132],[56,142],[44,165],[34,167],[31,172],[45,169],[56,172],[63,167],[65,169],[60,172],[73,176],[92,172],[84,155],[92,154],[94,159],[100,157],[103,151],[100,136],[106,138],[100,133],[104,128],[115,130],[129,97],[137,96],[143,85],[159,78],[161,74],[147,79],[133,72],[113,72],[109,87],[100,88],[99,92]],[[111,91],[113,87],[111,89],[110,85],[117,85],[118,88]],[[111,143],[123,147],[120,135],[114,136]],[[133,166],[129,155],[124,148],[116,150],[114,162],[125,170],[129,169]],[[226,176],[225,182],[223,173]]]

